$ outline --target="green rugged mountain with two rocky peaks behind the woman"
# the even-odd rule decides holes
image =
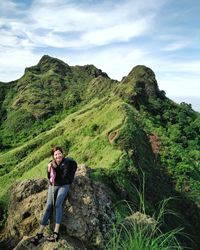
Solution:
[[[135,187],[143,187],[145,211],[153,215],[170,199],[179,217],[166,216],[163,230],[183,227],[192,240],[180,236],[181,244],[198,249],[200,115],[167,98],[150,68],[138,65],[119,82],[93,65],[45,55],[0,87],[2,227],[10,185],[45,177],[50,148],[60,145],[92,168],[91,178],[107,186],[114,203],[139,210]],[[121,216],[125,207],[116,207]]]

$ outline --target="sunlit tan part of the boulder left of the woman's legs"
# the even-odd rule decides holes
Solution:
[[[46,179],[32,179],[15,183],[11,187],[11,204],[5,227],[8,249],[12,249],[24,235],[38,230],[44,211],[48,182]]]

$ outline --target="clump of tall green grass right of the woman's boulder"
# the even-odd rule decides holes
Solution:
[[[167,198],[160,203],[157,213],[152,217],[145,213],[144,200],[144,180],[142,192],[134,187],[138,195],[139,204],[137,208],[140,212],[134,212],[127,201],[130,216],[125,219],[117,220],[109,233],[109,240],[106,243],[105,250],[182,250],[183,248],[177,240],[179,235],[185,236],[183,228],[176,228],[169,231],[162,231],[164,217],[167,215],[178,216],[175,212],[169,210],[167,205],[172,198]],[[119,216],[120,217],[120,216]],[[128,222],[128,223],[127,223]]]

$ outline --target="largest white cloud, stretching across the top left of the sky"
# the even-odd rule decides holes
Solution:
[[[4,11],[0,25],[9,30],[2,34],[5,37],[2,43],[8,42],[8,46],[13,44],[13,47],[88,48],[128,41],[151,30],[154,13],[160,6],[158,2],[108,4],[105,1],[84,5],[76,1],[35,0],[23,12],[17,8],[22,4],[4,1],[7,11]],[[5,14],[9,8],[15,15]]]

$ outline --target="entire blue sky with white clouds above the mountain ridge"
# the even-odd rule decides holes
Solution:
[[[199,26],[199,0],[0,0],[0,81],[44,54],[118,80],[143,64],[200,111]]]

